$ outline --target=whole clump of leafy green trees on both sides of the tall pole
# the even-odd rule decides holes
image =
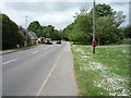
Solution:
[[[124,22],[122,12],[116,12],[109,4],[96,4],[96,40],[100,45],[117,42],[123,38],[120,24]],[[68,38],[79,44],[91,44],[93,36],[93,9],[90,13],[83,8],[74,16],[74,22],[63,32]]]

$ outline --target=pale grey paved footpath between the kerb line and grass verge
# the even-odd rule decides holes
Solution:
[[[69,42],[60,54],[55,70],[50,73],[41,90],[40,96],[78,96],[73,56]]]

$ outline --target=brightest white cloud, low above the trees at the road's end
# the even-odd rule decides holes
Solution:
[[[57,28],[63,28],[66,25],[73,22],[73,16],[75,15],[75,12],[79,11],[79,8],[70,9],[63,12],[53,11],[50,13],[40,13],[39,15],[34,16],[34,20],[37,20],[40,22],[41,25],[55,25]]]

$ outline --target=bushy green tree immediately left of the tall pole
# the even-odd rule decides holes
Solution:
[[[68,38],[78,44],[87,44],[92,39],[92,17],[86,12],[76,14],[73,29]]]

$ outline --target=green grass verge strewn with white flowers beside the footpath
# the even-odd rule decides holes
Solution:
[[[72,45],[80,96],[129,96],[129,47]]]

